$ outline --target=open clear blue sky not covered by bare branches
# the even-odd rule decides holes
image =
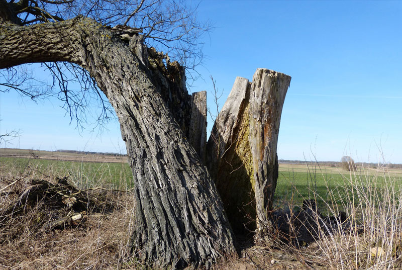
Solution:
[[[198,16],[215,29],[198,69],[204,80],[189,92],[211,91],[213,75],[222,106],[236,76],[251,80],[262,67],[292,77],[279,159],[377,162],[380,148],[386,162],[402,163],[402,2],[203,1]],[[57,101],[0,95],[0,133],[23,134],[7,147],[125,152],[117,121],[80,135]]]

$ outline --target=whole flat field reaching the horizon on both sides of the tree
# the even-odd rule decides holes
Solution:
[[[133,187],[127,157],[122,155],[6,148],[0,149],[0,156],[3,156],[0,157],[3,173],[8,170],[12,175],[21,175],[31,170],[38,178],[49,174],[56,177],[69,175],[70,181],[80,189],[106,187],[127,190]],[[290,202],[300,206],[304,199],[313,198],[314,195],[327,200],[330,195],[328,190],[344,187],[351,173],[360,177],[376,175],[376,182],[380,184],[384,184],[386,177],[395,177],[399,183],[402,179],[402,169],[381,166],[358,166],[357,171],[349,172],[341,167],[318,164],[279,164],[275,205],[282,207]]]

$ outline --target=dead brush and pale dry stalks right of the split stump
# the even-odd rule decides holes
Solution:
[[[320,202],[326,213],[308,207],[309,222],[317,226],[303,225],[314,241],[310,246],[304,241],[291,244],[293,254],[314,262],[306,268],[402,269],[401,179],[392,177],[386,167],[374,173],[351,171],[343,179],[335,189],[327,186],[329,199],[312,192],[308,200]],[[288,230],[297,237],[294,219],[289,216]]]

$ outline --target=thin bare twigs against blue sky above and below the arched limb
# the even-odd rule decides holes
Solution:
[[[203,43],[199,38],[211,29],[209,22],[197,20],[197,6],[186,0],[0,0],[0,8],[0,23],[8,20],[18,25],[32,25],[83,15],[103,25],[125,25],[138,29],[137,32],[143,33],[148,47],[168,53],[171,59],[186,68],[187,77],[190,78],[187,84],[198,75],[195,67],[203,59]],[[18,74],[20,80],[14,78],[14,81],[9,81],[8,77],[3,76],[0,85],[8,90],[15,89],[32,100],[56,97],[64,102],[66,114],[80,128],[88,124],[87,116],[94,113],[88,110],[90,101],[97,104],[95,125],[102,126],[114,115],[109,102],[87,71],[66,62],[46,63],[43,66],[53,77],[49,83],[37,81],[32,73],[18,69],[15,75]],[[8,71],[0,71],[0,75],[1,72],[7,74]],[[44,85],[41,91],[40,83]],[[75,86],[78,84],[80,89]]]

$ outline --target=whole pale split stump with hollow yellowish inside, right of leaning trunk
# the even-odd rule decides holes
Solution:
[[[252,82],[237,77],[208,141],[207,166],[236,231],[246,225],[257,228],[258,236],[268,232],[278,178],[279,123],[289,84],[290,76],[262,68]]]

